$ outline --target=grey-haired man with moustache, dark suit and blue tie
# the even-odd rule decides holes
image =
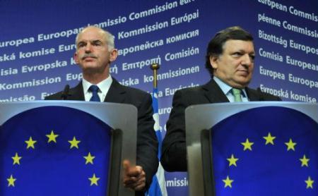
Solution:
[[[57,100],[82,100],[132,104],[138,109],[137,166],[125,160],[123,182],[126,188],[142,195],[158,168],[158,142],[153,130],[151,95],[120,85],[110,76],[110,63],[117,58],[114,36],[99,27],[86,27],[76,37],[74,59],[83,71],[83,80],[65,94],[58,92],[46,97]]]

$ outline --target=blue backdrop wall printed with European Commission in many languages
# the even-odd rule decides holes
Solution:
[[[160,63],[163,130],[175,90],[209,80],[206,45],[233,25],[255,38],[251,87],[285,101],[317,102],[317,8],[316,0],[0,0],[0,102],[40,100],[76,85],[74,39],[87,25],[114,34],[120,55],[111,71],[122,84],[151,92],[149,65]],[[167,173],[166,180],[168,193],[186,194],[186,173]]]

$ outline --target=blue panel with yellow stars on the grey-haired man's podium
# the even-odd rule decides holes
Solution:
[[[0,195],[107,195],[110,130],[62,106],[13,116],[0,129]]]

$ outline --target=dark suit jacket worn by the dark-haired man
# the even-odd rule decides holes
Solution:
[[[249,101],[280,101],[271,94],[245,88]],[[229,102],[228,97],[212,79],[205,85],[175,92],[172,111],[163,140],[161,164],[166,171],[187,171],[184,110],[195,104]]]

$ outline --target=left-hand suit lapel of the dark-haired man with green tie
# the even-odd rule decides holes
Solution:
[[[213,79],[203,85],[202,88],[205,90],[204,95],[210,103],[230,102]]]

